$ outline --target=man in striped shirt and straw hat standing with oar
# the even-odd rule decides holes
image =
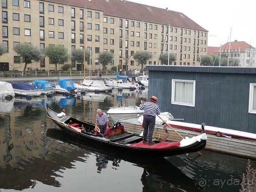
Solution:
[[[155,124],[156,124],[156,114],[160,115],[160,109],[159,106],[156,104],[157,102],[157,97],[152,96],[150,98],[150,102],[144,102],[140,101],[140,110],[144,110],[143,113],[143,143],[147,141],[147,132],[148,132],[148,145],[153,145],[152,142],[152,137],[153,137],[153,132],[155,129]]]

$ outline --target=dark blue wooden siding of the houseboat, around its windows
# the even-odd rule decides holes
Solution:
[[[185,122],[256,133],[256,114],[248,113],[249,86],[256,68],[146,66],[148,96],[158,97],[161,112]],[[195,80],[195,107],[172,104],[172,79]]]

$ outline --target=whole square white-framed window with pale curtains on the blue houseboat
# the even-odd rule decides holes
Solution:
[[[195,106],[196,81],[172,80],[172,104]]]

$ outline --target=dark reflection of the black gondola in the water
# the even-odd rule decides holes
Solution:
[[[147,189],[143,191],[184,191],[185,188],[187,189],[186,191],[197,191],[200,187],[193,179],[175,166],[173,161],[169,161],[166,158],[155,158],[153,156],[141,158],[139,155],[130,155],[119,151],[108,151],[101,147],[95,148],[94,144],[84,143],[82,140],[78,139],[72,139],[69,137],[69,134],[64,133],[59,129],[48,129],[46,135],[49,138],[57,140],[59,143],[63,143],[63,145],[58,145],[59,147],[78,146],[83,151],[103,155],[104,158],[109,161],[108,165],[112,164],[112,167],[117,166],[120,169],[122,166],[121,161],[130,162],[133,166],[142,167],[141,182],[143,188]],[[64,151],[66,151],[65,148]],[[67,151],[70,152],[70,149]],[[67,157],[69,157],[69,155],[66,155],[64,158]],[[175,159],[174,163],[176,162],[180,163],[178,157]],[[106,169],[109,167],[111,168],[111,166],[108,166]],[[184,190],[181,190],[180,188]]]

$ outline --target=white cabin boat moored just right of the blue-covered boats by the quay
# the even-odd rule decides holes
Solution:
[[[99,92],[112,90],[112,87],[108,87],[105,85],[102,80],[89,80],[83,79],[82,83],[74,83],[74,86],[77,90],[83,91],[93,91],[98,90]]]

